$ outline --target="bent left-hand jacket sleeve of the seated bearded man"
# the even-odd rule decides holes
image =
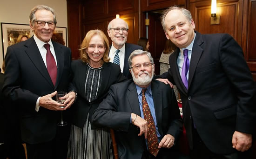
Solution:
[[[108,96],[104,99],[92,115],[95,126],[106,126],[115,130],[128,132],[131,113],[118,111],[118,93],[115,86],[111,86]]]

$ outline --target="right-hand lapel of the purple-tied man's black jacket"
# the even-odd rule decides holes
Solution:
[[[203,43],[202,35],[196,32],[195,41],[194,41],[193,49],[191,53],[190,65],[189,65],[189,86],[191,84],[191,81],[193,80],[193,77],[195,74],[195,68],[203,52],[203,49],[201,47],[202,43]]]

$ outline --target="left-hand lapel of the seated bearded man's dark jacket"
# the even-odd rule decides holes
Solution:
[[[138,93],[137,93],[136,86],[135,86],[134,82],[132,82],[128,86],[127,98],[128,98],[129,104],[131,106],[132,112],[141,116]]]

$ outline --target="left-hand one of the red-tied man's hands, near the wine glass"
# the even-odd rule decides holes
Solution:
[[[42,106],[49,110],[63,111],[64,108],[60,108],[60,106],[66,106],[65,104],[61,104],[52,99],[56,95],[57,91],[51,94],[47,94],[42,96],[39,100],[39,106]]]

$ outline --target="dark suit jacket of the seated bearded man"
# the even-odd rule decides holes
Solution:
[[[163,137],[171,134],[178,140],[182,132],[182,119],[172,88],[153,80],[152,96],[158,130]],[[131,113],[141,116],[138,95],[133,80],[112,85],[108,96],[94,111],[92,121],[97,126],[107,126],[115,130],[119,159],[141,159],[144,135],[130,123]]]

